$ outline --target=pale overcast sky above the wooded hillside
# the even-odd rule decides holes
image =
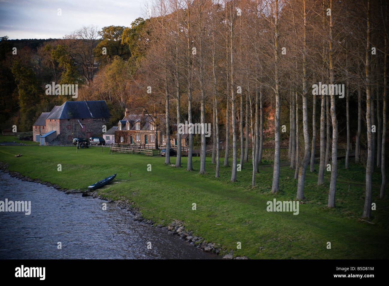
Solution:
[[[82,26],[130,26],[147,0],[0,0],[0,37],[62,39]],[[58,16],[61,9],[61,16]]]

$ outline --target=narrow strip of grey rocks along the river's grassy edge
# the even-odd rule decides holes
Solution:
[[[183,221],[175,220],[172,221],[168,226],[163,225],[155,225],[154,221],[151,219],[146,219],[142,217],[142,213],[139,209],[133,207],[134,202],[130,202],[130,200],[126,200],[125,198],[122,198],[121,200],[112,200],[112,198],[103,197],[102,194],[99,194],[98,191],[82,191],[81,189],[66,189],[61,187],[58,184],[53,184],[51,182],[42,181],[40,179],[31,179],[28,176],[21,175],[19,172],[12,172],[7,170],[8,164],[0,162],[0,170],[3,172],[9,174],[11,177],[15,177],[17,179],[20,179],[22,181],[28,181],[28,182],[35,182],[40,183],[45,186],[50,186],[55,189],[58,189],[59,191],[63,191],[65,193],[82,193],[82,196],[91,196],[93,198],[99,198],[101,200],[106,200],[108,203],[116,204],[120,209],[125,209],[126,211],[131,212],[133,214],[133,220],[138,221],[140,223],[146,223],[151,226],[155,226],[158,228],[161,228],[162,230],[166,231],[168,235],[177,235],[181,239],[185,240],[186,242],[193,244],[196,248],[209,252],[209,253],[216,253],[219,255],[223,255],[223,259],[247,259],[246,256],[243,257],[233,257],[233,251],[227,252],[226,249],[224,249],[220,244],[214,243],[214,242],[208,242],[203,237],[194,236],[192,230],[186,230],[186,227],[184,226]]]

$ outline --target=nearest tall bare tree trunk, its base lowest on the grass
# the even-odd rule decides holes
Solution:
[[[372,173],[372,136],[371,136],[371,98],[370,98],[370,0],[367,1],[367,33],[366,33],[366,64],[365,64],[365,82],[366,82],[366,126],[367,126],[367,160],[366,160],[366,187],[365,202],[363,207],[363,218],[371,218],[371,173]]]

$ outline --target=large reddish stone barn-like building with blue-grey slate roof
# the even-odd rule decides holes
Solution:
[[[110,119],[104,100],[67,101],[46,114],[43,112],[33,125],[34,141],[40,140],[42,134],[56,132],[54,139],[44,140],[44,144],[71,144],[76,137],[100,137],[103,125],[108,125]]]

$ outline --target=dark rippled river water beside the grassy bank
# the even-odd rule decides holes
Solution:
[[[0,172],[0,201],[6,198],[31,201],[31,214],[0,212],[0,259],[221,258],[177,235],[132,221],[130,212],[116,204],[65,194]],[[103,202],[107,203],[105,211]]]

